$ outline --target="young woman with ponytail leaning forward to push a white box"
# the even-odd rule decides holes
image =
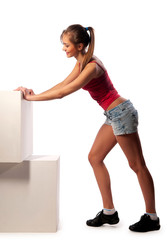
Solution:
[[[146,205],[146,213],[140,221],[131,225],[132,231],[146,232],[159,230],[156,215],[154,184],[146,167],[140,139],[137,132],[138,113],[130,100],[121,97],[114,88],[103,63],[93,55],[94,30],[81,25],[71,25],[61,35],[63,50],[68,58],[75,57],[77,62],[71,74],[53,88],[35,94],[32,89],[19,87],[28,101],[44,101],[63,98],[81,88],[105,110],[106,121],[100,128],[91,151],[89,161],[101,192],[104,209],[88,226],[99,227],[103,224],[119,222],[118,213],[112,199],[110,177],[104,165],[104,158],[118,143],[125,153],[129,166],[136,173]]]

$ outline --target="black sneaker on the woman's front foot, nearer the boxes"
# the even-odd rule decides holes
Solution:
[[[117,224],[119,222],[118,212],[112,215],[105,215],[103,210],[99,212],[94,219],[88,220],[86,224],[90,227],[100,227],[107,223],[110,225]]]

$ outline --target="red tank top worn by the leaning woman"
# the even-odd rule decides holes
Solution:
[[[102,68],[102,66],[96,61],[92,62],[95,62],[100,68]],[[120,95],[114,88],[107,71],[104,69],[103,71],[104,73],[100,77],[93,78],[82,89],[87,90],[91,97],[96,100],[104,110],[106,110],[112,102],[120,97]]]

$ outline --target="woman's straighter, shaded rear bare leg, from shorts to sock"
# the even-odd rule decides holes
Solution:
[[[116,139],[125,153],[130,167],[137,174],[145,200],[146,212],[155,213],[154,183],[145,164],[138,133],[116,136]]]

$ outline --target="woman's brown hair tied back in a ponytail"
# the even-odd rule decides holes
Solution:
[[[90,35],[88,34],[88,31]],[[95,45],[94,29],[92,27],[84,28],[79,24],[74,24],[70,25],[66,30],[62,32],[60,36],[61,41],[64,34],[69,34],[70,41],[74,45],[82,43],[84,45],[83,52],[85,52],[86,48],[88,47],[88,50],[85,53],[84,60],[82,63],[83,70],[93,56]]]

